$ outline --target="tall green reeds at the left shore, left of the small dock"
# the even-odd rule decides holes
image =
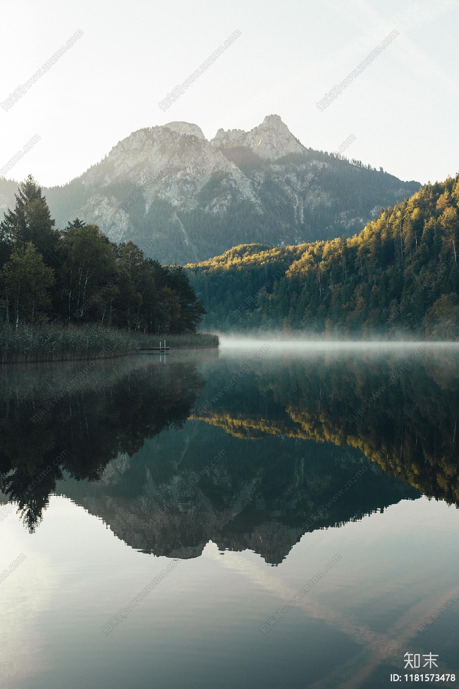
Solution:
[[[138,349],[131,333],[100,327],[56,324],[0,327],[0,362],[68,361],[122,356]]]

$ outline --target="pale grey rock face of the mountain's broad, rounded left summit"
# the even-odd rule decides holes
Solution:
[[[186,144],[189,146],[185,148]],[[178,152],[180,157],[170,165]],[[118,142],[107,158],[81,176],[80,182],[90,195],[77,214],[99,225],[111,240],[127,241],[136,238],[136,223],[129,210],[120,206],[125,199],[105,190],[128,181],[133,188],[140,187],[145,213],[158,200],[172,209],[191,212],[200,206],[202,189],[213,178],[220,178],[220,189],[204,206],[204,212],[224,213],[233,197],[248,201],[255,212],[261,212],[261,201],[248,178],[209,144],[198,125],[171,122],[151,127]]]

